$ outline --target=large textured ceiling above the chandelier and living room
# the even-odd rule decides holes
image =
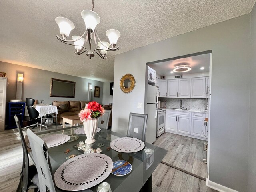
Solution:
[[[255,0],[95,0],[101,40],[106,30],[119,30],[120,50],[108,59],[76,56],[74,47],[59,42],[57,16],[75,24],[72,35],[85,30],[81,12],[90,0],[1,0],[0,61],[100,81],[114,77],[114,55],[184,34],[251,12]]]

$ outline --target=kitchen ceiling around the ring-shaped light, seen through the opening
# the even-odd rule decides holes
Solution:
[[[174,72],[171,74],[170,72],[174,69],[174,67],[180,64],[186,64],[190,66],[191,70],[188,72],[183,72],[183,73]],[[192,57],[164,61],[164,62],[149,64],[148,66],[156,70],[156,74],[159,74],[160,76],[209,72],[210,71],[210,54],[208,53],[208,54],[196,55]],[[201,67],[204,67],[204,70],[201,70],[200,69]]]

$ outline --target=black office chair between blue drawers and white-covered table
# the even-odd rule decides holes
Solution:
[[[28,127],[33,127],[32,131],[35,127],[38,127],[38,125],[42,125],[41,124],[41,118],[39,117],[39,112],[33,107],[34,103],[36,100],[32,99],[32,98],[26,98],[26,106],[27,106],[27,110],[28,110],[28,115],[30,120],[32,120],[34,122],[34,124],[26,126],[23,128],[23,130],[25,130]],[[42,125],[45,128],[47,128],[47,126]]]

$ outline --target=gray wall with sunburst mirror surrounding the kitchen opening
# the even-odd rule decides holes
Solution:
[[[130,112],[144,113],[146,63],[212,50],[209,180],[247,188],[250,96],[250,14],[115,56],[114,84],[131,73],[129,94],[114,89],[112,130],[125,134]]]

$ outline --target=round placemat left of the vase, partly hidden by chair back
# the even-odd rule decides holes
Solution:
[[[70,140],[70,136],[61,134],[48,135],[42,137],[42,140],[44,140],[48,148],[51,148],[68,142],[68,140]]]

